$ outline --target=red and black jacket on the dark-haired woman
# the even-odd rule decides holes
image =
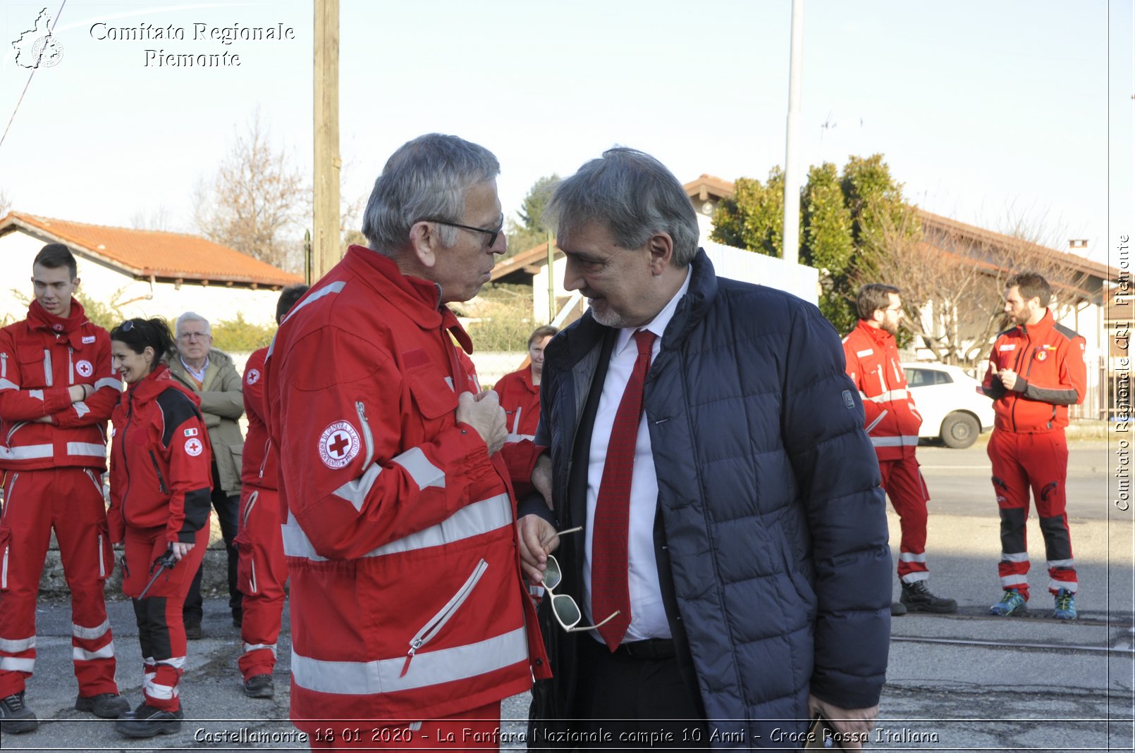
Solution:
[[[199,406],[165,364],[123,394],[111,416],[111,541],[128,525],[165,526],[166,541],[193,543],[209,519],[212,451]]]

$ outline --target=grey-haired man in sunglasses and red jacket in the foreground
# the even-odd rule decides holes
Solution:
[[[477,295],[505,251],[498,172],[455,136],[400,147],[367,205],[369,247],[347,249],[269,348],[292,718],[313,747],[495,750],[502,699],[549,676],[504,411],[474,392],[454,339],[472,345],[445,305]],[[407,721],[342,739],[325,719]]]

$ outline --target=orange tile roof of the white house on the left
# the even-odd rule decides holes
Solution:
[[[15,230],[24,230],[45,243],[62,243],[79,255],[121,269],[133,277],[257,286],[303,282],[299,274],[212,240],[180,232],[112,228],[9,212],[0,219],[0,236]]]

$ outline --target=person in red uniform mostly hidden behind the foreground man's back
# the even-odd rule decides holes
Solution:
[[[276,323],[304,293],[306,285],[284,288],[276,303]],[[268,348],[249,356],[244,366],[244,415],[249,431],[244,438],[241,468],[241,517],[236,534],[239,553],[238,583],[244,594],[244,619],[241,640],[244,653],[237,665],[244,683],[244,694],[252,699],[270,699],[276,694],[272,669],[276,667],[276,638],[280,633],[284,609],[284,584],[287,562],[280,524],[287,510],[280,510],[277,491],[278,463],[276,450],[268,441],[264,425],[264,359]]]

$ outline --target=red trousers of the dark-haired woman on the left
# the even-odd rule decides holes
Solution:
[[[201,567],[209,545],[209,518],[196,532],[193,549],[173,568],[162,569],[158,579],[138,599],[150,578],[158,573],[153,561],[169,548],[166,527],[134,528],[126,526],[123,593],[134,601],[134,617],[142,646],[142,697],[154,709],[177,711],[182,708],[178,684],[185,671],[185,623],[182,606],[190,591],[193,574]],[[159,566],[160,567],[160,566]],[[151,572],[152,570],[152,572]]]

